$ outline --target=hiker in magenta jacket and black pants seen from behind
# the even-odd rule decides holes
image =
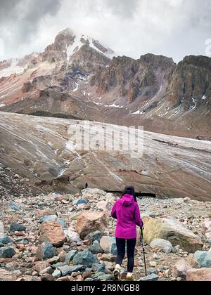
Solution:
[[[115,230],[117,259],[113,273],[114,279],[120,277],[120,268],[125,255],[125,242],[127,242],[127,280],[133,280],[136,225],[140,228],[143,227],[133,186],[124,188],[122,197],[115,202],[110,216],[117,219]]]

